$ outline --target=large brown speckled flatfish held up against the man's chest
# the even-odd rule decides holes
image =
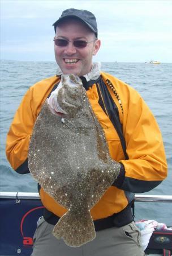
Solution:
[[[95,238],[90,209],[117,179],[120,165],[110,158],[79,77],[63,75],[61,81],[57,100],[67,114],[52,114],[45,101],[33,129],[28,164],[44,191],[68,209],[54,236],[77,247]]]

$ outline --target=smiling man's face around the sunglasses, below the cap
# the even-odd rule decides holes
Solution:
[[[56,38],[87,42],[95,40],[85,48],[75,47],[71,42],[65,47],[54,44],[55,60],[64,74],[83,76],[89,73],[92,68],[92,56],[96,55],[100,48],[100,40],[96,40],[93,32],[79,20],[70,19],[56,28]]]

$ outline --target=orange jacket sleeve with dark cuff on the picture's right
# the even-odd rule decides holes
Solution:
[[[113,185],[125,191],[142,193],[156,187],[167,176],[167,163],[161,131],[151,110],[130,86],[124,86],[123,134],[127,160]]]

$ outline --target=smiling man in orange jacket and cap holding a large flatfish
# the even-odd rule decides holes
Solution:
[[[77,248],[53,237],[54,225],[66,209],[39,188],[45,213],[38,221],[32,256],[144,255],[140,232],[132,222],[131,205],[134,193],[150,191],[167,175],[161,132],[140,95],[92,63],[100,48],[92,13],[68,9],[53,26],[57,76],[38,82],[25,94],[7,135],[7,158],[17,172],[28,172],[28,144],[41,106],[57,88],[61,74],[74,73],[83,81],[104,129],[111,158],[121,164],[121,169],[117,180],[91,209],[96,238]],[[51,108],[55,110],[54,105]]]

